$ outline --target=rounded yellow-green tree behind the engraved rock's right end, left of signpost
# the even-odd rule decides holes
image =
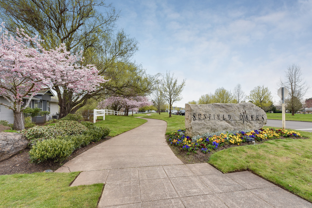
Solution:
[[[250,91],[250,95],[247,96],[249,101],[251,101],[256,106],[263,109],[265,112],[271,109],[273,105],[272,95],[268,87],[256,86]]]

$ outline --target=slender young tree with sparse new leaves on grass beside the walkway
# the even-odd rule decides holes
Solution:
[[[172,108],[172,104],[182,99],[182,91],[185,85],[185,80],[181,84],[178,84],[178,79],[174,78],[174,73],[170,75],[170,71],[166,72],[163,76],[162,85],[160,88],[160,95],[169,103],[169,109]],[[171,116],[171,110],[169,110],[169,117]]]

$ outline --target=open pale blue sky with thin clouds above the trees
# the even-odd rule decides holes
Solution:
[[[110,2],[121,11],[118,28],[140,43],[134,60],[149,74],[186,79],[174,106],[237,84],[247,95],[265,85],[277,102],[277,82],[293,63],[312,85],[311,0]]]

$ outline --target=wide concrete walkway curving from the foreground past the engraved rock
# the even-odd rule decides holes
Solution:
[[[184,165],[165,141],[167,123],[148,122],[73,158],[56,172],[82,171],[71,186],[104,183],[98,208],[312,207],[250,173]]]

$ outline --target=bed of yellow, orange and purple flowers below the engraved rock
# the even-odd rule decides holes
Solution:
[[[300,133],[295,131],[288,131],[285,129],[259,129],[253,131],[230,131],[217,132],[215,134],[207,133],[198,135],[193,138],[184,135],[185,131],[182,129],[169,134],[167,140],[171,145],[177,146],[180,150],[187,150],[188,152],[201,151],[203,153],[210,152],[217,149],[219,146],[226,144],[240,145],[246,143],[246,138],[254,138],[255,141],[264,141],[267,139],[274,139],[280,137],[301,137]]]

